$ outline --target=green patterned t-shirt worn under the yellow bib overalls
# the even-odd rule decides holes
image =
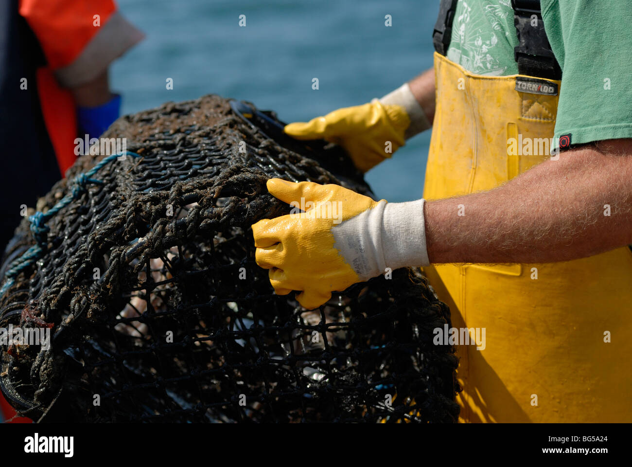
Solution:
[[[541,0],[562,68],[556,141],[632,138],[630,0]],[[447,58],[479,75],[514,75],[518,45],[511,0],[459,0]]]

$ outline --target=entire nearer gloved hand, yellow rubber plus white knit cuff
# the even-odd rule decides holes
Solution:
[[[307,309],[386,267],[427,263],[423,200],[387,204],[338,185],[281,178],[268,180],[267,188],[293,212],[252,226],[255,259],[270,270],[277,294],[299,290],[296,299]],[[404,220],[406,225],[400,225]]]

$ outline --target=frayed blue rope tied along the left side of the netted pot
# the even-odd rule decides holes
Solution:
[[[78,198],[81,194],[83,194],[87,188],[87,184],[97,184],[103,185],[102,180],[97,180],[94,175],[103,168],[105,165],[111,163],[114,159],[118,159],[121,156],[131,156],[133,158],[140,157],[137,153],[132,153],[131,151],[124,151],[123,153],[112,154],[111,156],[107,156],[99,161],[97,165],[88,170],[85,173],[80,173],[73,180],[73,184],[70,187],[70,192],[66,194],[62,199],[60,199],[55,206],[46,211],[46,213],[42,213],[37,211],[37,213],[29,216],[28,220],[31,221],[30,229],[33,232],[33,237],[35,238],[35,245],[30,247],[20,258],[16,259],[11,263],[11,268],[6,271],[4,275],[5,281],[2,289],[0,289],[0,295],[3,295],[11,285],[15,282],[15,277],[21,273],[21,271],[29,268],[35,263],[38,259],[41,259],[44,256],[44,251],[47,246],[47,234],[51,230],[47,225],[47,221],[51,220],[51,218],[59,213],[61,209],[65,208],[70,204],[73,200]]]

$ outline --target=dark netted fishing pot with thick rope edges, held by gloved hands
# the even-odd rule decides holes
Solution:
[[[0,387],[42,421],[451,422],[449,310],[402,268],[307,311],[274,294],[250,225],[289,213],[271,177],[371,196],[343,151],[218,96],[119,118],[25,219],[3,263]]]

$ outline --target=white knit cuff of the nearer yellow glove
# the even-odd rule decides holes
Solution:
[[[334,248],[361,280],[404,266],[428,266],[425,200],[380,201],[332,228]]]

